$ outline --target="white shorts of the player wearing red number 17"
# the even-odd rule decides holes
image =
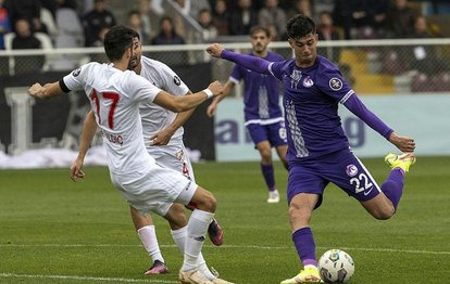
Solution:
[[[157,164],[127,175],[111,172],[111,181],[130,206],[162,217],[174,202],[188,205],[198,188],[178,171]]]

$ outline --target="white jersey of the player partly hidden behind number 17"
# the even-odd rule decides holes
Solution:
[[[140,76],[149,80],[158,88],[174,94],[185,95],[189,92],[189,88],[167,65],[162,62],[141,56]],[[150,101],[140,104],[140,116],[142,119],[143,139],[147,147],[150,147],[150,138],[159,131],[171,125],[176,113],[165,109],[159,105],[152,104]],[[168,145],[183,141],[183,127],[179,127],[172,135]]]

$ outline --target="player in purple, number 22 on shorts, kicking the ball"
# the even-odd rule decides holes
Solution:
[[[314,22],[296,15],[287,23],[289,44],[295,57],[270,62],[224,50],[220,44],[207,51],[215,57],[272,75],[283,81],[288,139],[289,180],[287,198],[292,242],[303,270],[282,284],[321,282],[315,244],[310,229],[313,209],[322,203],[325,186],[333,182],[354,197],[374,218],[386,220],[397,210],[404,173],[415,163],[413,139],[397,134],[368,111],[342,78],[339,69],[317,55]],[[385,157],[391,171],[378,186],[364,165],[354,156],[338,116],[342,104],[372,129],[396,145],[401,155]]]

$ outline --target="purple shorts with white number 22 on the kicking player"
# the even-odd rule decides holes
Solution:
[[[315,205],[317,208],[329,182],[359,202],[370,201],[380,193],[378,184],[361,160],[350,149],[345,149],[312,160],[291,163],[287,186],[288,204],[299,193],[315,193],[320,195]]]

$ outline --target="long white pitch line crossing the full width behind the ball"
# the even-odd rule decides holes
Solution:
[[[116,244],[39,244],[39,245],[28,245],[28,244],[0,244],[0,247],[141,247],[140,245],[116,245]],[[176,247],[175,245],[160,245],[160,247]],[[215,247],[213,245],[205,245],[204,247]],[[238,248],[238,249],[267,249],[267,250],[282,250],[282,249],[292,249],[290,246],[240,246],[240,245],[223,245],[220,248]],[[318,249],[328,249],[329,247],[317,246]],[[341,249],[347,250],[360,250],[360,251],[382,251],[382,253],[403,253],[403,254],[423,254],[423,255],[442,255],[448,256],[450,251],[436,251],[436,250],[416,250],[416,249],[395,249],[395,248],[379,248],[379,247],[340,247]]]

